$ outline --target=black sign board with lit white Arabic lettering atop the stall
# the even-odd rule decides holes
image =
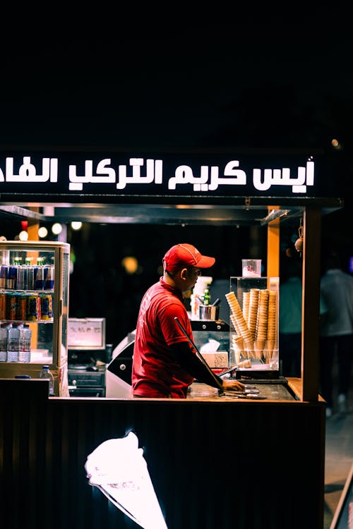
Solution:
[[[0,193],[135,195],[318,196],[321,162],[313,155],[8,153],[0,156]]]

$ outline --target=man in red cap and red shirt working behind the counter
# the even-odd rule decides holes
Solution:
[[[186,392],[197,378],[212,387],[244,391],[237,380],[220,384],[197,357],[175,317],[193,340],[183,293],[195,286],[204,268],[215,264],[191,244],[172,246],[164,255],[163,276],[143,296],[138,313],[133,350],[133,396],[186,399]]]

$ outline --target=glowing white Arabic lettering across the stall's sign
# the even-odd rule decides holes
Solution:
[[[288,167],[282,169],[254,168],[253,187],[258,191],[267,191],[272,186],[286,186],[292,188],[292,193],[306,193],[309,186],[314,185],[314,162],[309,157],[304,166],[298,166],[297,172]],[[215,191],[220,186],[246,186],[246,172],[239,169],[239,160],[231,160],[222,168],[220,166],[199,166],[196,169],[190,165],[181,164],[177,166],[174,175],[169,177],[167,185],[169,190],[176,190],[177,186],[193,186],[196,193],[207,193]],[[58,181],[58,158],[42,158],[41,171],[37,171],[35,163],[31,162],[30,156],[23,157],[23,163],[19,166],[18,174],[13,171],[13,157],[6,157],[5,170],[0,168],[0,182],[57,182]],[[157,184],[163,183],[163,161],[162,159],[130,158],[128,164],[121,164],[117,169],[112,167],[112,159],[104,158],[97,162],[94,167],[92,159],[84,161],[85,171],[83,175],[78,174],[78,166],[68,166],[68,188],[71,191],[82,191],[83,184],[87,183],[114,183],[116,189],[125,189],[129,184]],[[40,174],[41,172],[41,174]]]

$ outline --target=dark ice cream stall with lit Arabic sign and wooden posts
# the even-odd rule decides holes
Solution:
[[[14,379],[0,366],[4,520],[22,528],[47,527],[48,517],[52,528],[322,528],[321,219],[343,206],[325,193],[322,153],[25,150],[4,153],[0,168],[0,214],[32,226],[49,218],[263,226],[271,279],[280,275],[281,223],[294,222],[303,262],[301,378],[271,379],[263,399],[198,382],[181,401],[71,398],[60,384],[49,398],[42,381]],[[61,295],[54,304],[65,320]],[[66,341],[55,343],[50,363],[59,373]],[[113,441],[128,444],[121,466],[121,444],[104,451]]]

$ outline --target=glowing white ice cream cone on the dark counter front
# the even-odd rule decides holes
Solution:
[[[167,529],[138,438],[108,439],[85,463],[90,485],[144,529]]]

